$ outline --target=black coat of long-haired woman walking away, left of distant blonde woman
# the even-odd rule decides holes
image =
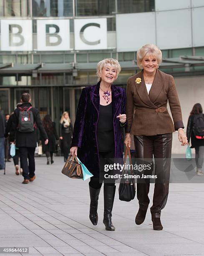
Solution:
[[[56,131],[56,125],[55,125],[55,122],[52,122],[52,131],[48,131],[45,129],[47,135],[48,135],[48,144],[45,145],[44,141],[43,141],[43,152],[55,152],[56,151],[56,141],[55,140],[58,140],[58,134],[57,134],[57,131]]]

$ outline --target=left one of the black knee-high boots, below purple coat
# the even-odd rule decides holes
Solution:
[[[93,225],[97,225],[98,223],[98,196],[100,193],[101,188],[94,189],[93,187],[89,186],[89,192],[90,192],[90,212],[89,212],[89,219],[91,220],[91,223]]]

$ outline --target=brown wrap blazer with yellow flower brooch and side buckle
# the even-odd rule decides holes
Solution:
[[[138,77],[141,78],[139,84],[135,82]],[[174,123],[166,108],[168,101]],[[174,78],[157,69],[148,95],[143,71],[129,77],[126,115],[126,133],[138,136],[172,133],[184,128]]]

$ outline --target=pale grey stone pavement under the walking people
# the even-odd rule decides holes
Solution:
[[[203,183],[170,184],[162,231],[153,230],[149,210],[137,226],[137,199],[121,202],[116,190],[116,230],[111,232],[102,223],[103,189],[98,225],[93,226],[88,218],[88,181],[65,177],[63,158],[54,160],[46,165],[45,157],[36,158],[36,179],[29,184],[21,184],[23,178],[15,175],[13,163],[7,163],[6,175],[0,171],[0,247],[29,247],[30,256],[204,256]],[[152,195],[153,184],[151,201]]]

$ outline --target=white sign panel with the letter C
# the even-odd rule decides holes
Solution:
[[[75,19],[74,39],[76,50],[107,49],[107,20]]]

